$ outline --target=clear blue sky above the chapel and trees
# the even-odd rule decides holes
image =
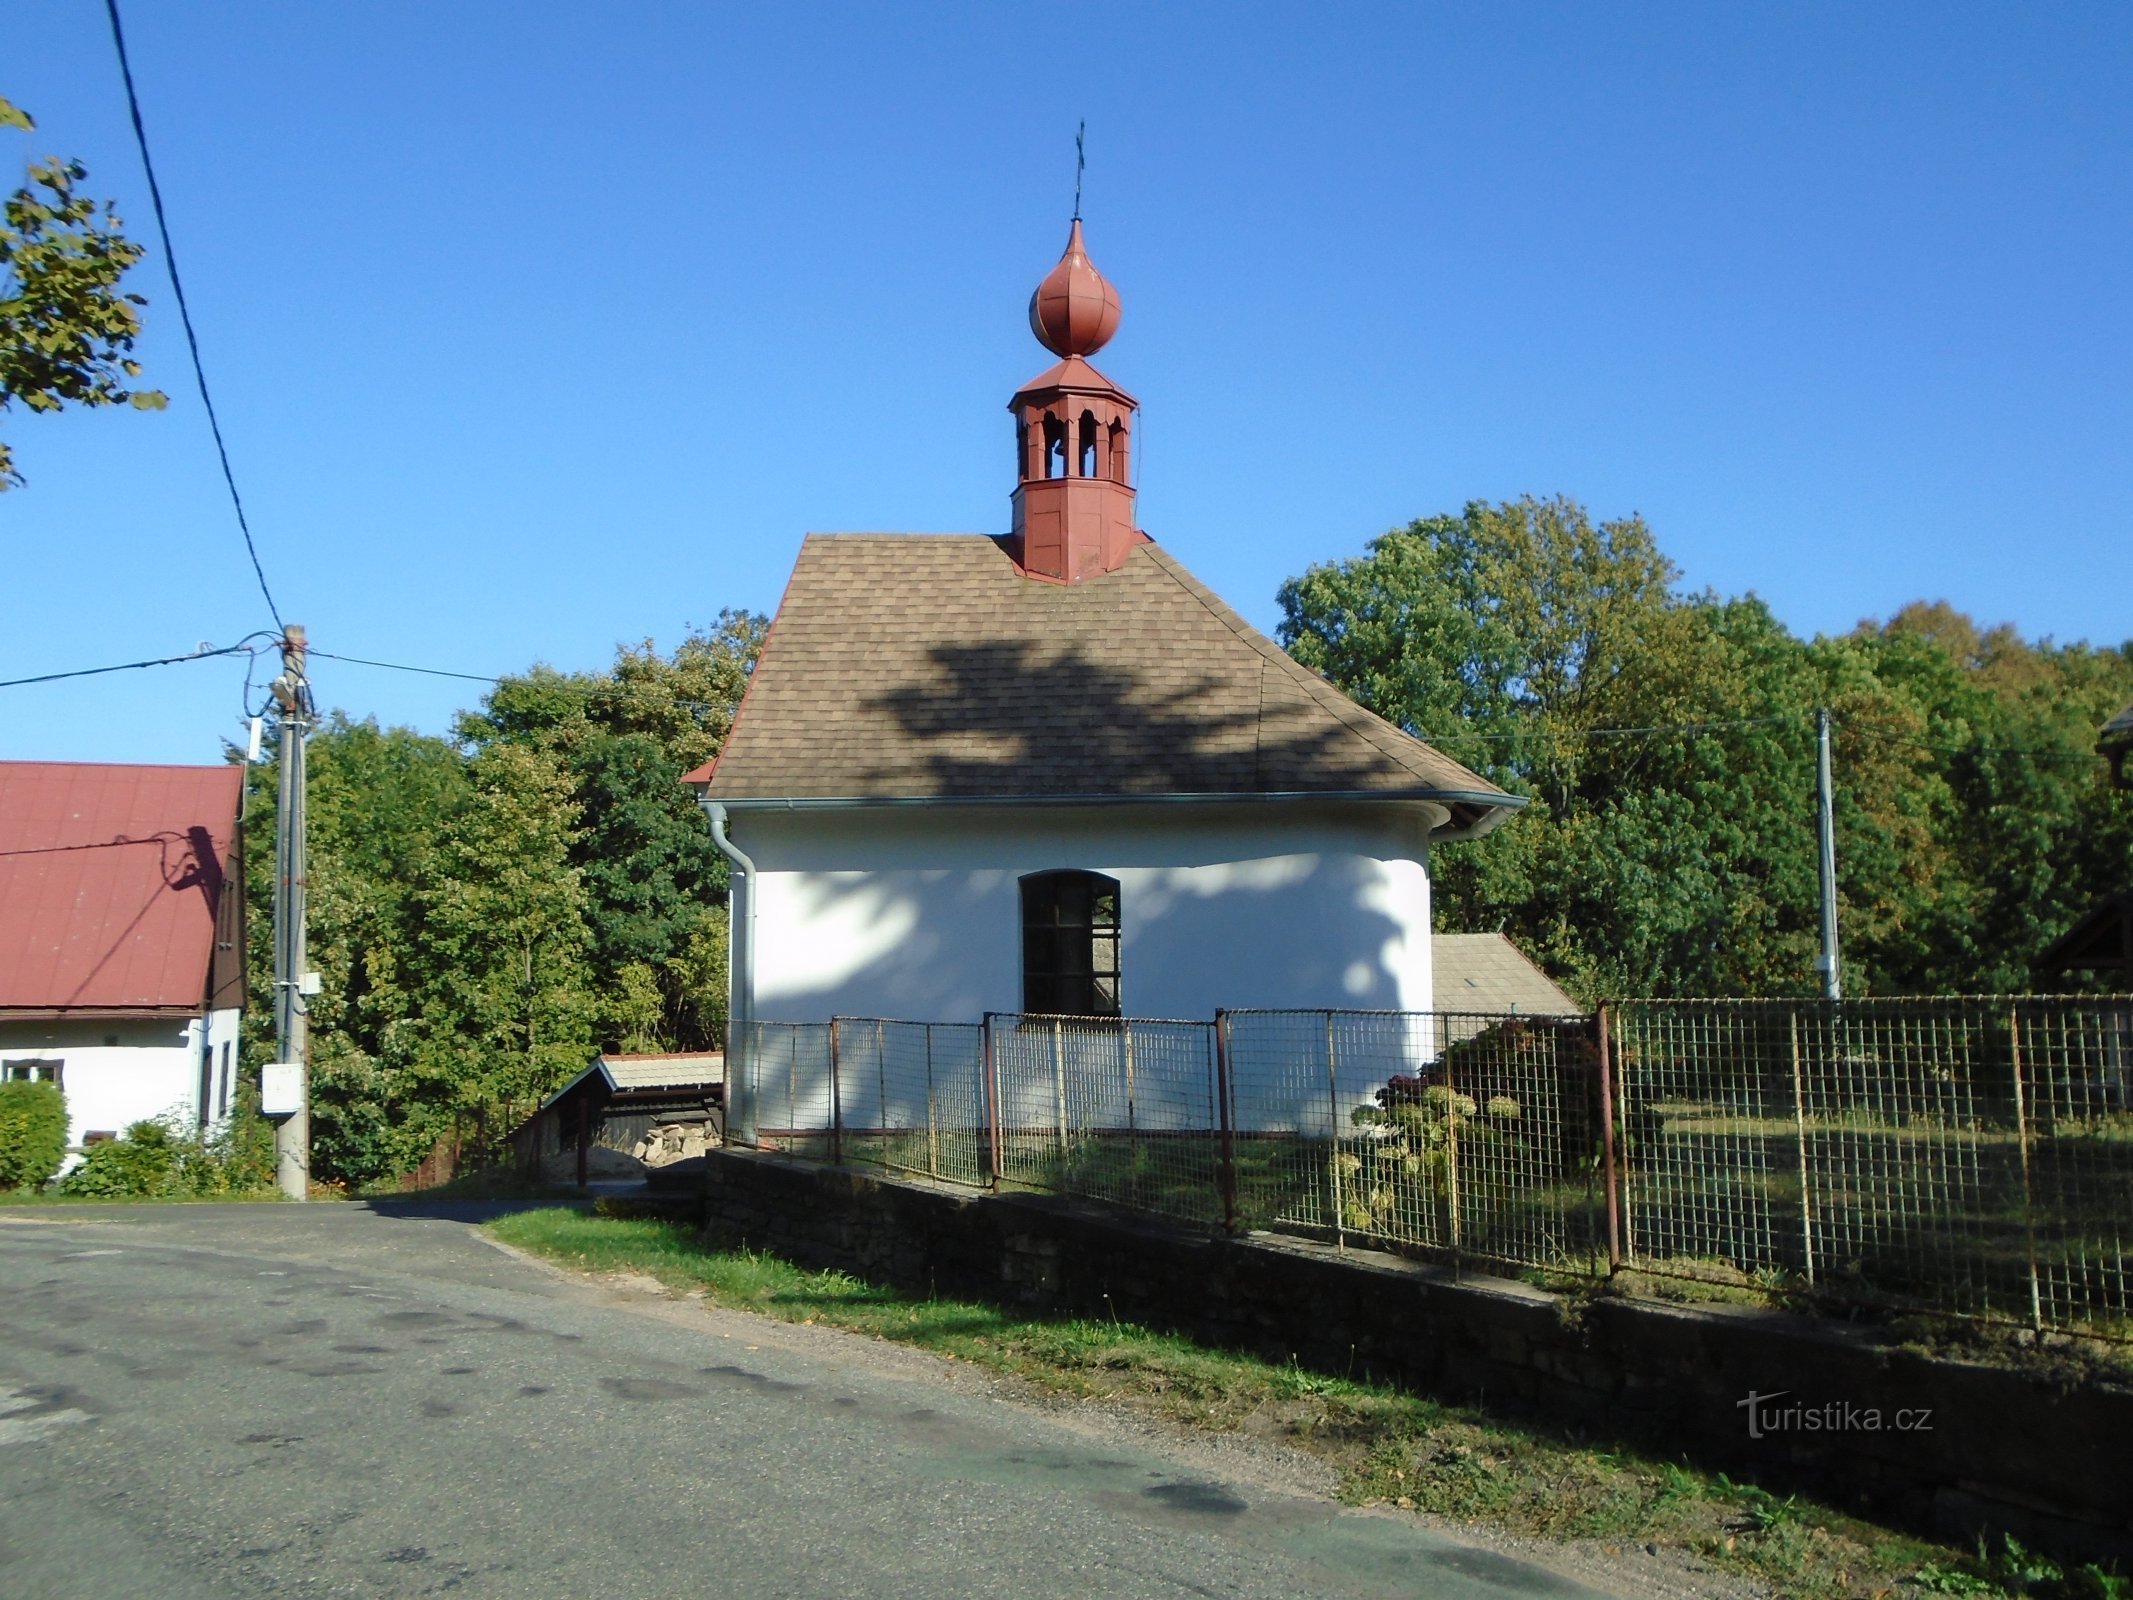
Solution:
[[[0,134],[151,237],[102,9]],[[1073,128],[1141,525],[1254,623],[1519,493],[1802,634],[1945,597],[2118,644],[2133,9],[128,0],[269,580],[348,655],[604,666],[811,529],[1003,531]],[[264,625],[160,252],[164,414],[4,422],[0,678]],[[0,757],[218,757],[241,668],[0,691]],[[320,661],[431,732],[478,685]]]

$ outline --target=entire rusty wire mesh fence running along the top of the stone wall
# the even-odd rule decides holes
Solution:
[[[755,1022],[757,1141],[1495,1271],[2133,1338],[2133,1001]]]

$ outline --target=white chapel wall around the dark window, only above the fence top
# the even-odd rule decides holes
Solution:
[[[1020,879],[1120,883],[1128,1015],[1429,1009],[1418,819],[1271,804],[738,813],[761,881],[755,1015],[1022,1007]]]

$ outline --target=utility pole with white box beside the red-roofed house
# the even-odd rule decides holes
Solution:
[[[273,698],[282,706],[282,772],[275,800],[273,894],[273,1033],[277,1079],[260,1088],[260,1109],[279,1116],[273,1131],[275,1182],[288,1199],[311,1193],[311,1026],[305,996],[303,898],[303,736],[311,727],[311,683],[303,672],[303,629],[282,629],[282,676]]]

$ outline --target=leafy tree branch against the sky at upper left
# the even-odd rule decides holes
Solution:
[[[0,128],[28,132],[36,122],[0,100]],[[15,401],[32,412],[169,403],[160,390],[130,386],[141,375],[128,354],[141,337],[137,307],[147,301],[119,292],[119,279],[145,252],[119,233],[109,201],[81,194],[87,175],[77,160],[45,156],[0,207],[0,412]],[[0,491],[21,482],[0,442]]]

